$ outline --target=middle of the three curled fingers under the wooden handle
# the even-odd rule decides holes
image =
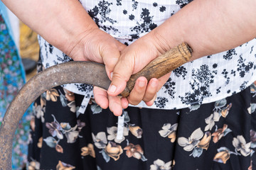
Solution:
[[[158,79],[156,78],[151,79],[149,81],[149,84],[146,86],[146,92],[142,100],[144,102],[151,101],[157,93],[157,88],[158,88]]]

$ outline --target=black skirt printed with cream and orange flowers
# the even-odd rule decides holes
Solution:
[[[28,169],[256,169],[256,88],[180,110],[117,118],[62,87],[34,103]],[[119,119],[119,121],[118,121]]]

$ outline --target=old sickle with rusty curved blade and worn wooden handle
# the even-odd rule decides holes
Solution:
[[[191,58],[192,50],[183,42],[181,45],[172,48],[164,55],[151,61],[144,69],[127,81],[127,87],[122,96],[129,96],[137,78],[144,76],[148,81],[155,77],[159,78],[171,72]],[[57,64],[43,70],[32,77],[18,92],[18,95],[11,102],[7,109],[0,128],[0,169],[11,169],[11,151],[14,133],[18,127],[23,113],[44,91],[55,86],[70,83],[91,84],[107,89],[110,86],[102,64],[93,62],[66,62]]]

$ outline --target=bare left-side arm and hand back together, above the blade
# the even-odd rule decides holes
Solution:
[[[108,75],[125,47],[100,30],[79,1],[2,1],[23,23],[73,60],[105,63]]]

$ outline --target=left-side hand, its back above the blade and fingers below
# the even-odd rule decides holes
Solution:
[[[75,45],[69,56],[75,61],[92,61],[105,64],[107,76],[112,79],[111,73],[117,64],[120,52],[124,50],[126,45],[99,28],[90,30],[80,38],[81,40],[78,41],[79,43]],[[108,96],[107,91],[96,86],[94,87],[94,97],[97,104],[102,108],[108,108],[109,103],[121,102],[119,97]],[[117,107],[122,110],[121,106],[117,105]],[[110,110],[114,112],[111,107]]]

